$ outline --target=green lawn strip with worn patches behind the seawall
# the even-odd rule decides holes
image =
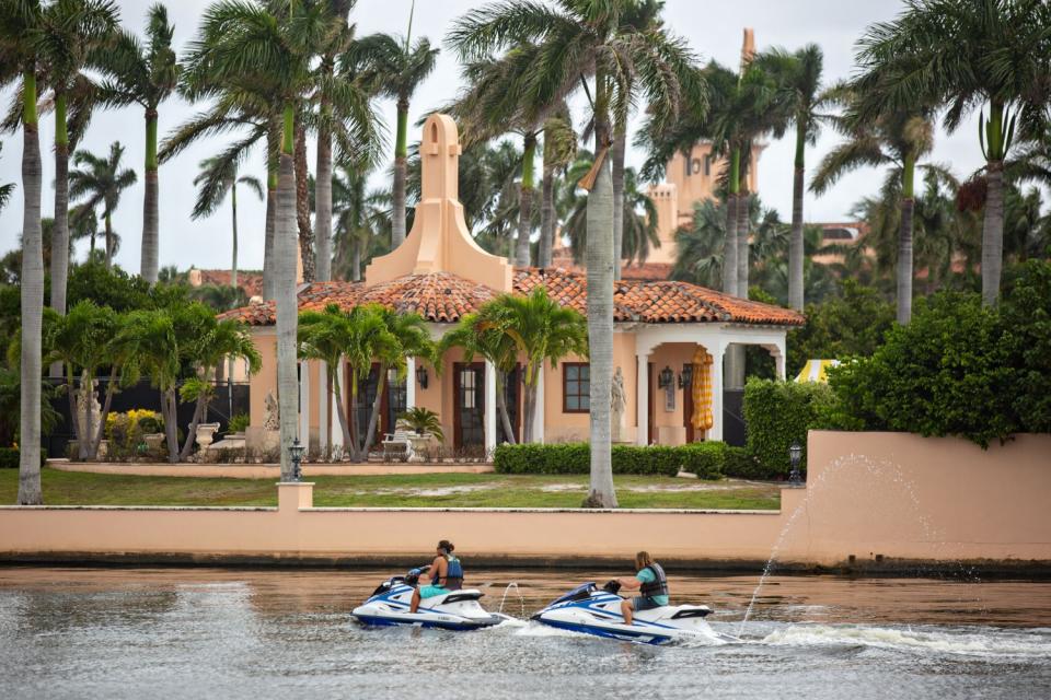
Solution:
[[[198,479],[44,469],[49,505],[277,505],[273,479]],[[586,476],[421,474],[312,478],[314,505],[401,508],[576,508]],[[615,477],[623,508],[777,509],[772,485],[668,477]],[[14,503],[15,469],[0,469],[0,503]]]

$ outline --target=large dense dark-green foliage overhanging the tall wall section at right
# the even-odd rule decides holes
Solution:
[[[830,417],[865,430],[961,435],[983,447],[1051,431],[1051,262],[1019,268],[998,308],[977,294],[920,300],[871,358],[829,373]]]

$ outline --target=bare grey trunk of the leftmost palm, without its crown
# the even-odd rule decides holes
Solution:
[[[41,138],[36,75],[23,75],[22,133],[22,358],[19,431],[19,505],[44,502],[41,490],[41,351],[44,319],[44,242],[41,232]]]

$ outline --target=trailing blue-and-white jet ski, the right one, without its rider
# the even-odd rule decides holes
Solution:
[[[552,602],[532,619],[551,627],[645,644],[666,644],[682,639],[706,639],[713,642],[736,641],[714,631],[704,619],[712,612],[706,605],[665,605],[651,610],[636,610],[632,625],[624,623],[617,591],[610,581],[602,588],[593,582],[577,586]]]

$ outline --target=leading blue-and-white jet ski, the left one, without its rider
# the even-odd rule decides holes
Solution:
[[[457,631],[493,627],[510,619],[506,615],[487,612],[478,603],[485,594],[473,588],[423,598],[416,612],[409,612],[413,590],[427,569],[413,569],[404,576],[391,576],[377,586],[368,600],[354,609],[354,616],[370,627],[407,625]]]

